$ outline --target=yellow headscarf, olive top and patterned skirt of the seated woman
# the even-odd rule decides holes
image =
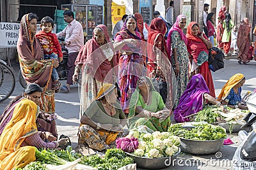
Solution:
[[[108,94],[108,92],[111,92],[114,89],[115,85],[104,83],[100,88],[95,101],[90,104],[89,108],[83,114],[95,122],[95,124],[113,124],[113,126],[118,126],[120,124],[120,119],[125,118],[120,104],[113,104],[116,113],[110,117],[110,115],[106,113],[102,103],[99,101],[102,97]],[[90,125],[81,124],[78,132],[78,145],[79,147],[81,147],[81,145],[87,145],[89,148],[102,151],[105,150],[107,146],[115,148],[116,139],[127,136],[127,134],[129,134],[129,131],[114,132],[108,131],[108,129],[93,129]]]

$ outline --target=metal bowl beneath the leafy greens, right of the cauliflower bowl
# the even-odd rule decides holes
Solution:
[[[209,155],[220,150],[221,146],[223,146],[224,139],[200,141],[180,138],[180,141],[181,152],[195,155]]]

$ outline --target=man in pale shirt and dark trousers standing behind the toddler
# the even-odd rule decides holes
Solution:
[[[68,63],[67,63],[67,83],[61,87],[62,92],[69,92],[70,85],[73,84],[72,76],[75,71],[75,61],[81,46],[84,45],[83,27],[80,22],[74,18],[73,11],[65,11],[63,13],[65,22],[68,23],[63,31],[57,33],[57,37],[65,37],[65,45],[68,50]]]

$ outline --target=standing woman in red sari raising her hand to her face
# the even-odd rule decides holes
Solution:
[[[210,90],[210,95],[215,97],[212,74],[208,65],[208,49],[212,48],[212,42],[208,40],[203,32],[200,32],[199,25],[196,22],[191,22],[188,25],[186,37],[188,38],[187,48],[191,58],[191,74],[202,74]]]

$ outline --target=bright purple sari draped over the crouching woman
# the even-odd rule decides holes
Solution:
[[[176,122],[189,122],[191,115],[202,110],[205,93],[209,94],[209,89],[204,77],[201,74],[195,74],[180,97],[179,105],[173,111]]]

